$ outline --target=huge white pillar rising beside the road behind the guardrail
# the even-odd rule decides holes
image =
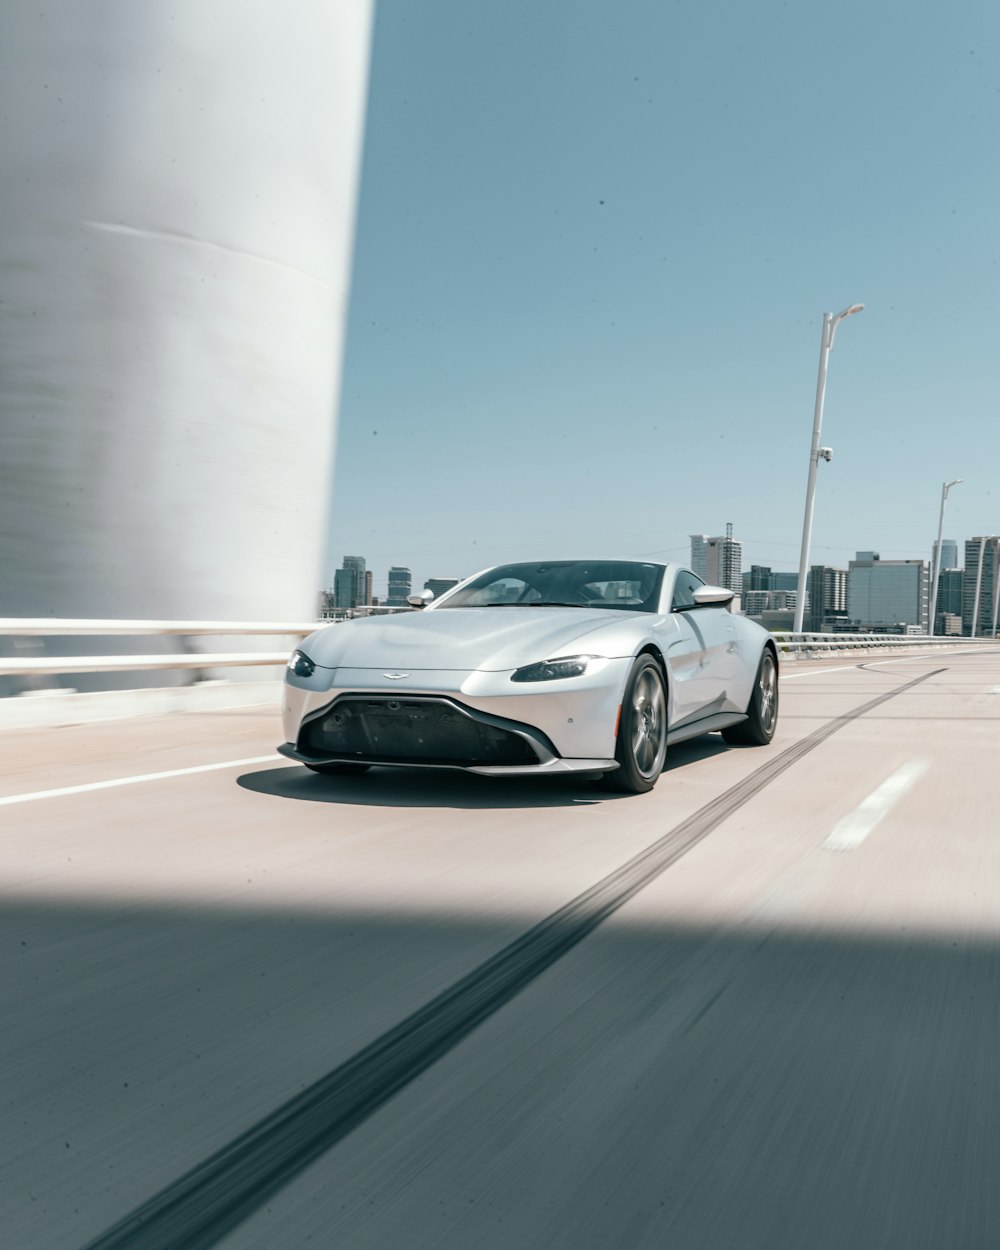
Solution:
[[[312,615],[370,19],[1,6],[0,616]]]

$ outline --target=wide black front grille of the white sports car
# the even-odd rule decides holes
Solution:
[[[329,759],[384,764],[538,764],[509,729],[460,711],[442,699],[341,696],[302,726],[300,750]]]

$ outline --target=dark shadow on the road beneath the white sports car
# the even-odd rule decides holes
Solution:
[[[672,746],[666,756],[668,774],[729,750],[718,738],[695,739]],[[591,778],[576,774],[540,778],[490,778],[438,769],[372,768],[362,776],[321,776],[300,765],[260,769],[236,778],[236,785],[255,794],[305,802],[336,802],[360,808],[580,808],[642,795],[616,794],[600,789]]]

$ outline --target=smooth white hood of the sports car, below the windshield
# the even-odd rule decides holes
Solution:
[[[448,608],[330,625],[301,649],[325,669],[505,671],[559,655],[632,655],[645,631],[641,616],[590,608]]]

